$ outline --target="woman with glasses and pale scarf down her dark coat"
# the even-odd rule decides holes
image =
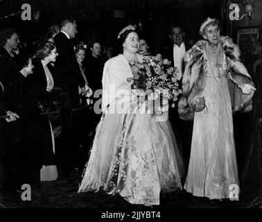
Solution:
[[[43,42],[37,49],[36,58],[33,59],[34,74],[33,83],[37,87],[37,99],[40,102],[39,107],[43,111],[45,106],[48,107],[51,101],[50,92],[53,90],[53,66],[51,62],[55,62],[58,52],[52,42]],[[41,180],[50,181],[58,178],[58,172],[55,165],[55,141],[51,122],[49,117],[42,116],[39,121],[40,146],[42,148],[42,169]]]

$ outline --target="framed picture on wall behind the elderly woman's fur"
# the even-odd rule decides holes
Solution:
[[[237,29],[237,43],[243,60],[252,55],[252,50],[256,49],[256,40],[259,40],[259,26]]]

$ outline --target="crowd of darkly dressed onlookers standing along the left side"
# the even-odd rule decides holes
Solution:
[[[115,49],[73,41],[75,19],[62,19],[30,42],[0,32],[0,189],[40,186],[83,167],[101,117],[93,105],[103,65]]]

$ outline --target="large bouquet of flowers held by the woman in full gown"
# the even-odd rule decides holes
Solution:
[[[144,56],[143,62],[134,61],[137,67],[137,75],[128,78],[132,92],[137,96],[146,96],[148,101],[160,99],[158,111],[168,110],[168,100],[171,107],[175,107],[177,96],[182,94],[177,83],[177,67],[171,67],[171,62],[166,58],[162,59],[160,54],[157,56]]]

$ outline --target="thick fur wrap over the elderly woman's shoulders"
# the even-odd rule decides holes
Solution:
[[[254,92],[250,95],[242,94],[240,87],[245,83],[254,86],[254,83],[239,59],[240,51],[238,46],[227,36],[222,36],[220,42],[225,53],[222,65],[227,73],[232,111],[248,112],[252,110],[252,96]],[[180,118],[184,120],[193,120],[195,113],[193,101],[195,96],[200,96],[204,89],[204,71],[207,68],[207,58],[204,53],[205,44],[207,44],[206,40],[198,41],[184,56],[183,94],[178,103],[178,113]]]

